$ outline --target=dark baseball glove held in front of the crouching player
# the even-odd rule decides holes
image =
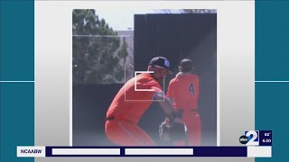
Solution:
[[[187,127],[183,122],[163,121],[159,126],[159,135],[163,142],[187,139]]]

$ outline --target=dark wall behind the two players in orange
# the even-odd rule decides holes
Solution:
[[[217,144],[217,14],[139,14],[135,15],[135,70],[145,70],[151,58],[170,60],[178,72],[182,58],[191,58],[200,76],[199,112],[202,145]],[[168,76],[165,88],[174,75]],[[104,133],[107,108],[122,85],[73,86],[73,130],[75,146],[113,145]],[[153,103],[139,125],[156,143],[162,109]]]

